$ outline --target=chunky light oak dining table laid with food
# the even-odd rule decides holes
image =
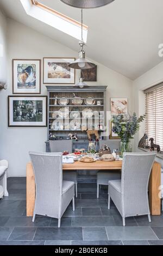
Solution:
[[[122,161],[96,161],[91,163],[74,162],[64,163],[63,170],[120,170],[122,169]],[[151,176],[149,179],[149,207],[152,215],[161,214],[161,199],[160,194],[161,184],[161,165],[154,162]],[[27,164],[27,216],[33,216],[35,205],[35,177],[32,163]]]

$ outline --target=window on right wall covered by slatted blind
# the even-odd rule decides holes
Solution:
[[[146,94],[146,133],[153,137],[163,152],[163,83],[145,91]],[[150,145],[148,140],[148,145]]]

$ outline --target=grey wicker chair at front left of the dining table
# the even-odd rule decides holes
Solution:
[[[33,214],[60,220],[72,200],[74,211],[74,182],[62,180],[62,154],[30,152],[33,164],[36,199]]]

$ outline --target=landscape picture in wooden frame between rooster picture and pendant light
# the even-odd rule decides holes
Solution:
[[[43,58],[43,83],[75,83],[75,69],[68,65],[75,58]]]

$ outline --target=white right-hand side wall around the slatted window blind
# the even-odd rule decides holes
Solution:
[[[145,94],[143,90],[161,82],[163,82],[163,62],[156,65],[153,69],[147,71],[133,82],[133,107],[138,115],[145,114]],[[144,132],[145,122],[141,124],[141,129],[135,136],[135,151],[140,151],[137,149],[137,145]],[[160,162],[163,167],[162,159],[157,157],[156,161]]]

